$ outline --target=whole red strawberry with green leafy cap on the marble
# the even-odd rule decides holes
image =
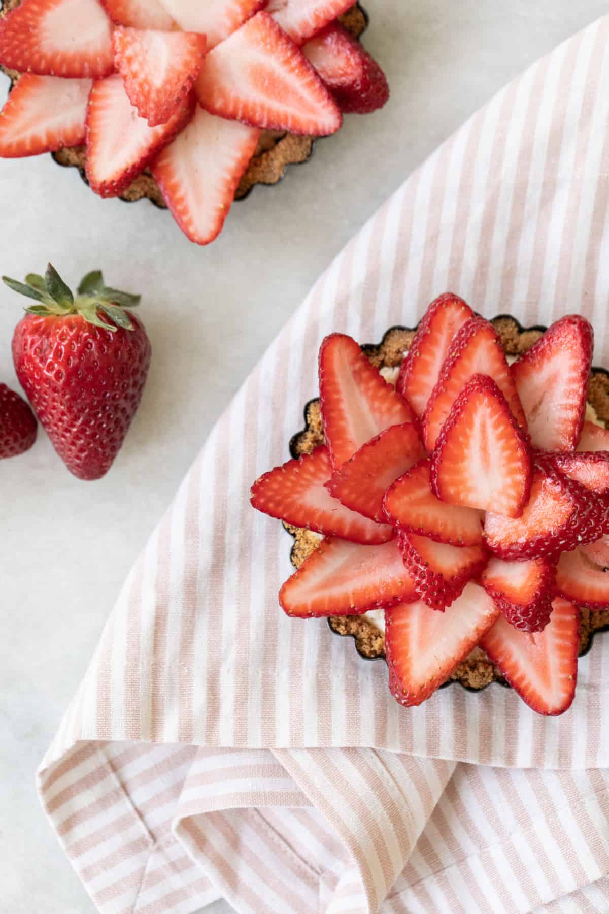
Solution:
[[[50,263],[44,278],[3,279],[36,302],[13,336],[21,386],[69,472],[100,479],[121,448],[150,367],[143,324],[123,310],[140,296],[107,288],[93,271],[75,298]]]

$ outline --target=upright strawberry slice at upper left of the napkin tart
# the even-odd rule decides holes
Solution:
[[[320,347],[321,418],[335,470],[391,425],[415,418],[362,349],[344,334],[326,336]]]

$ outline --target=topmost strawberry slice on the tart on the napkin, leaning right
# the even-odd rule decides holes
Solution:
[[[472,317],[474,312],[469,305],[452,292],[444,292],[427,308],[397,379],[397,390],[417,416],[425,412],[457,332]]]

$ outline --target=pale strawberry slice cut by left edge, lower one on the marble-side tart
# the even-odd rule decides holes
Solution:
[[[24,73],[0,112],[0,158],[54,153],[85,139],[91,80]]]

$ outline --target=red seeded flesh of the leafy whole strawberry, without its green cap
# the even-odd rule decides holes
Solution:
[[[59,457],[79,479],[100,479],[140,404],[151,345],[143,324],[114,333],[66,317],[26,314],[16,325],[19,383]]]

